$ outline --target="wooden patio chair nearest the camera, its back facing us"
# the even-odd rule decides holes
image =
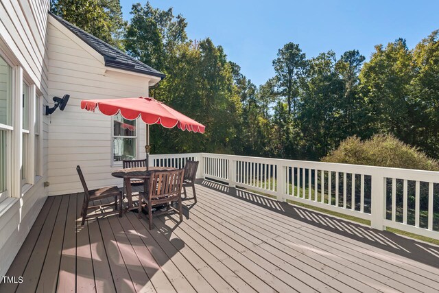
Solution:
[[[180,222],[182,222],[181,189],[184,174],[184,169],[153,172],[150,178],[145,180],[145,191],[139,193],[139,218],[141,218],[144,199],[150,230],[152,230],[152,207],[156,204],[167,204],[167,207],[165,211],[154,212],[154,216],[169,213],[169,209],[172,209],[180,215]],[[178,209],[172,207],[172,202],[178,202]]]

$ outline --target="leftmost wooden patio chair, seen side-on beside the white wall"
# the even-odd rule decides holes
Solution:
[[[122,217],[122,192],[119,190],[117,186],[109,186],[109,187],[102,187],[99,189],[93,189],[88,190],[88,187],[85,183],[84,175],[82,174],[81,167],[76,166],[76,171],[78,172],[78,175],[80,176],[80,180],[82,183],[82,187],[84,187],[84,202],[82,204],[81,209],[81,216],[82,216],[82,222],[81,226],[84,226],[85,220],[87,218],[96,218],[101,215],[112,215],[115,213],[119,213],[119,218]],[[110,204],[99,204],[95,206],[88,206],[90,202],[93,202],[94,200],[102,200],[104,198],[114,198],[115,202]],[[119,200],[119,202],[118,202]],[[117,209],[117,205],[119,204],[119,210]],[[113,211],[106,211],[105,213],[99,213],[95,215],[87,215],[88,209],[95,209],[97,207],[109,207],[113,206],[115,209]]]

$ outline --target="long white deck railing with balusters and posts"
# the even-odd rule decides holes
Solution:
[[[150,165],[180,168],[187,159],[200,161],[198,178],[439,239],[439,172],[207,153],[155,154]]]

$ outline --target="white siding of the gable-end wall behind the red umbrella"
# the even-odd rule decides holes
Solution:
[[[112,120],[80,108],[82,99],[139,97],[148,93],[147,75],[104,67],[104,58],[49,16],[49,97],[69,94],[69,104],[50,117],[47,149],[49,196],[83,191],[76,165],[90,189],[121,185],[111,171]],[[145,124],[137,123],[137,151],[145,156]]]

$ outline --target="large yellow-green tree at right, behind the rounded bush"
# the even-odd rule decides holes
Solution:
[[[361,95],[370,110],[369,132],[394,134],[414,145],[413,126],[422,114],[411,98],[413,56],[401,38],[385,48],[377,45],[375,50],[359,75]]]

